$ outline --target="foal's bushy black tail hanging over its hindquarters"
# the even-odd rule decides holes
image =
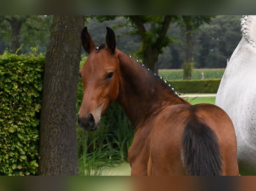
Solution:
[[[181,159],[187,175],[222,174],[222,159],[218,138],[204,124],[187,124],[182,134]]]

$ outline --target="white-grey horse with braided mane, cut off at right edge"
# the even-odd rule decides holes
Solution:
[[[256,175],[256,16],[242,16],[243,37],[222,77],[216,105],[232,119],[241,175]]]

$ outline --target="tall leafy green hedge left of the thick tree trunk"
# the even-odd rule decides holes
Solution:
[[[37,173],[44,63],[43,54],[0,55],[0,175]]]

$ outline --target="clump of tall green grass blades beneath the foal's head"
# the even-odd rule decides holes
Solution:
[[[106,175],[104,166],[115,166],[128,159],[133,127],[117,103],[101,118],[97,131],[77,128],[79,175]]]

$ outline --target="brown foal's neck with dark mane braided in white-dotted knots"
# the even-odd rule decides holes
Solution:
[[[149,72],[134,59],[121,51],[118,51],[118,58],[121,75],[116,101],[136,130],[169,105],[189,104],[178,97],[160,77]]]

